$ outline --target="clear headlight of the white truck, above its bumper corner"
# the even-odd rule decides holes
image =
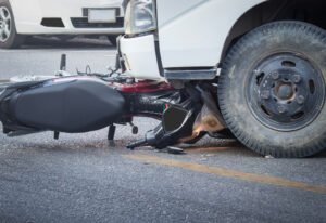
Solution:
[[[131,0],[125,14],[126,35],[137,35],[156,29],[154,0]]]

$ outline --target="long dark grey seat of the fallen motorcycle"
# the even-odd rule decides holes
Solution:
[[[86,77],[13,84],[0,94],[4,133],[95,131],[116,121],[124,108],[125,99],[118,91]]]

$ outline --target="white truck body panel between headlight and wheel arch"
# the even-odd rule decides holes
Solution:
[[[159,40],[164,68],[216,66],[235,23],[264,0],[190,2],[158,1]],[[175,15],[166,9],[171,5],[174,5],[173,9],[179,8]]]

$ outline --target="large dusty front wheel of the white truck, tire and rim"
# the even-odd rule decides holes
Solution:
[[[308,157],[326,147],[326,31],[274,22],[229,51],[218,82],[223,117],[261,155]]]

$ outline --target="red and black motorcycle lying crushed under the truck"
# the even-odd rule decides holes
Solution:
[[[83,133],[109,127],[114,140],[117,124],[138,128],[134,117],[161,120],[145,137],[127,148],[152,146],[163,149],[179,143],[192,144],[206,133],[227,134],[226,124],[213,94],[217,87],[191,81],[183,88],[167,82],[137,80],[123,73],[118,60],[110,74],[65,71],[62,55],[60,71],[53,76],[12,78],[0,86],[0,120],[3,133],[20,136],[42,131]],[[2,89],[2,90],[1,90]]]

